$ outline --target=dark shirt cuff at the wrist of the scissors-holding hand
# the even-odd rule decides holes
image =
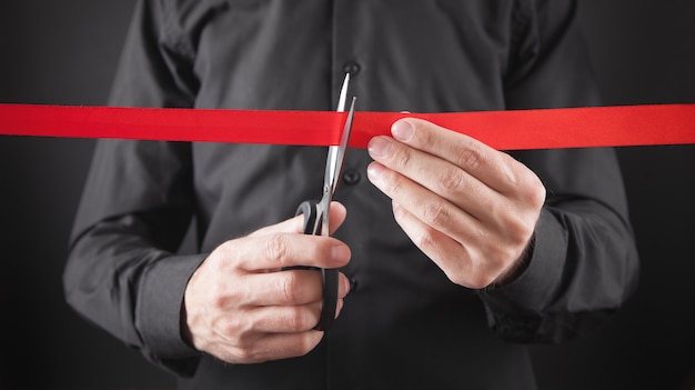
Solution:
[[[181,308],[189,279],[204,254],[172,256],[154,261],[147,270],[135,313],[147,349],[161,360],[200,356],[181,337]]]

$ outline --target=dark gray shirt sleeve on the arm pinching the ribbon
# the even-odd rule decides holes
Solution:
[[[595,106],[574,1],[518,1],[510,109]],[[562,129],[557,129],[558,132]],[[594,330],[637,284],[638,259],[615,152],[511,153],[546,187],[525,271],[481,291],[490,326],[515,342],[557,343]]]

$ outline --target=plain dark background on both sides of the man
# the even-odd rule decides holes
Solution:
[[[133,3],[0,0],[0,102],[104,104]],[[695,1],[583,0],[580,11],[607,104],[695,102]],[[63,301],[68,236],[92,147],[0,137],[0,390],[173,387]],[[538,381],[692,390],[695,146],[618,153],[639,290],[596,334],[534,348]]]

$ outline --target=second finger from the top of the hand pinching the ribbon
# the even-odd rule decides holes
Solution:
[[[504,198],[462,168],[437,156],[414,149],[390,137],[375,137],[369,144],[375,161],[397,171],[447,199],[477,219],[501,209]]]

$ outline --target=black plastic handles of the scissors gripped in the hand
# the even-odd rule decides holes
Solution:
[[[328,210],[325,211],[328,212]],[[321,234],[322,216],[319,212],[319,202],[315,200],[303,201],[296,209],[295,216],[304,214],[304,234]],[[326,331],[335,319],[335,308],[338,307],[338,270],[316,267],[298,267],[302,269],[321,270],[323,278],[323,304],[321,317],[315,330]]]

